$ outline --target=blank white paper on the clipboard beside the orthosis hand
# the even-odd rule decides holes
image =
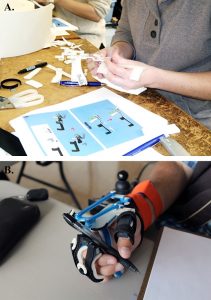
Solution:
[[[211,239],[165,228],[144,300],[211,299]]]

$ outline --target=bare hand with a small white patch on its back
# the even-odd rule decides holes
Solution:
[[[103,77],[108,81],[124,89],[136,89],[152,87],[159,69],[115,55],[104,61],[104,70]]]

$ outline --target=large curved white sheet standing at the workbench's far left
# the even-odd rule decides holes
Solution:
[[[0,57],[44,48],[51,37],[53,7],[49,4],[28,11],[0,11]]]

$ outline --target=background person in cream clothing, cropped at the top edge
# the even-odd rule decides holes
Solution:
[[[54,15],[77,26],[77,34],[97,48],[105,46],[105,17],[111,0],[37,0],[40,4],[53,2]]]

